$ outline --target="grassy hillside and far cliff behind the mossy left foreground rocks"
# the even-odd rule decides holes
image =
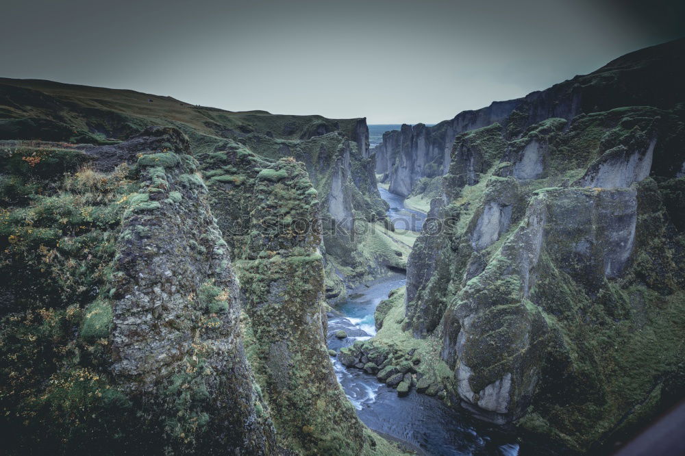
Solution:
[[[105,157],[112,167],[123,158],[117,155],[117,140],[128,140],[150,125],[186,134],[203,170],[215,173],[214,180],[230,179],[232,173],[212,168],[203,157],[226,149],[245,147],[266,160],[295,157],[306,164],[319,192],[321,216],[343,224],[323,238],[327,299],[345,299],[347,288],[388,273],[385,266],[375,266],[373,249],[360,246],[349,230],[351,219],[357,218],[359,231],[370,231],[368,223],[384,218],[386,211],[376,188],[364,118],[229,112],[129,90],[18,79],[0,79],[0,105],[6,113],[0,119],[0,139],[99,144],[88,149],[94,149],[103,166]],[[129,144],[127,151],[140,148],[145,144]]]

